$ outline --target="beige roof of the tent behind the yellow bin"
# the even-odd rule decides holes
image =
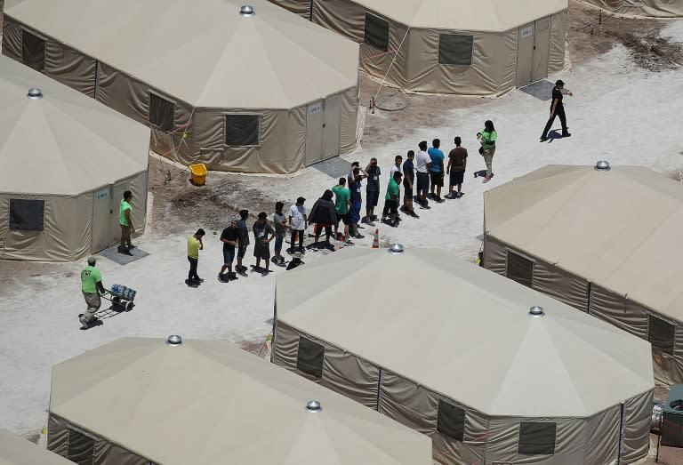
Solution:
[[[358,44],[265,0],[241,16],[244,3],[7,0],[5,13],[195,107],[293,108],[357,85]]]

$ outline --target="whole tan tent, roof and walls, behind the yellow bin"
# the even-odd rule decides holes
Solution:
[[[182,164],[285,173],[355,148],[358,44],[243,4],[6,0],[3,53],[149,124]]]

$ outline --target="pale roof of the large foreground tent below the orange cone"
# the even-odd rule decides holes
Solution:
[[[277,277],[279,322],[481,412],[585,417],[654,387],[649,342],[442,250],[320,262]]]

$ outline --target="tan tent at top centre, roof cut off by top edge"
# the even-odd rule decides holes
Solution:
[[[273,1],[297,12],[304,7]],[[500,94],[564,68],[567,0],[312,5],[314,22],[361,44],[360,68],[410,92]]]

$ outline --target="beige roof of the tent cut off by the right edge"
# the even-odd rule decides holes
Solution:
[[[683,321],[678,182],[640,166],[546,166],[486,192],[485,215],[503,243]]]

